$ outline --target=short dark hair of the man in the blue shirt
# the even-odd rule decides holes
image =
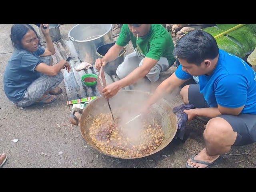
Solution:
[[[195,30],[184,35],[174,49],[174,56],[198,66],[205,59],[214,59],[218,54],[219,48],[216,40],[203,30]]]

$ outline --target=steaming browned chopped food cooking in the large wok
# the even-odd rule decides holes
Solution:
[[[113,122],[110,113],[96,116],[89,128],[95,146],[113,156],[135,158],[153,152],[164,140],[162,126],[154,118],[143,120],[140,128],[122,127],[120,122],[120,118]]]

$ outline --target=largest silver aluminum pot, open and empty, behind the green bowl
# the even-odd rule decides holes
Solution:
[[[96,54],[99,46],[114,42],[112,24],[78,24],[68,32],[68,37],[80,60],[91,64],[100,58]]]

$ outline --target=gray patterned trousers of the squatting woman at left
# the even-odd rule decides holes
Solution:
[[[44,63],[50,65],[52,63],[51,56],[40,57]],[[34,104],[37,100],[42,98],[45,92],[56,88],[64,79],[62,72],[58,72],[56,76],[49,76],[39,73],[39,78],[34,80],[25,91],[24,97],[16,103],[18,107],[26,107]]]

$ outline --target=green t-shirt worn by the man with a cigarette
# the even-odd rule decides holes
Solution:
[[[170,66],[174,64],[172,37],[161,24],[151,24],[148,34],[143,38],[138,37],[138,41],[128,28],[128,24],[123,24],[116,44],[126,46],[130,40],[138,55],[155,60],[166,57]]]

